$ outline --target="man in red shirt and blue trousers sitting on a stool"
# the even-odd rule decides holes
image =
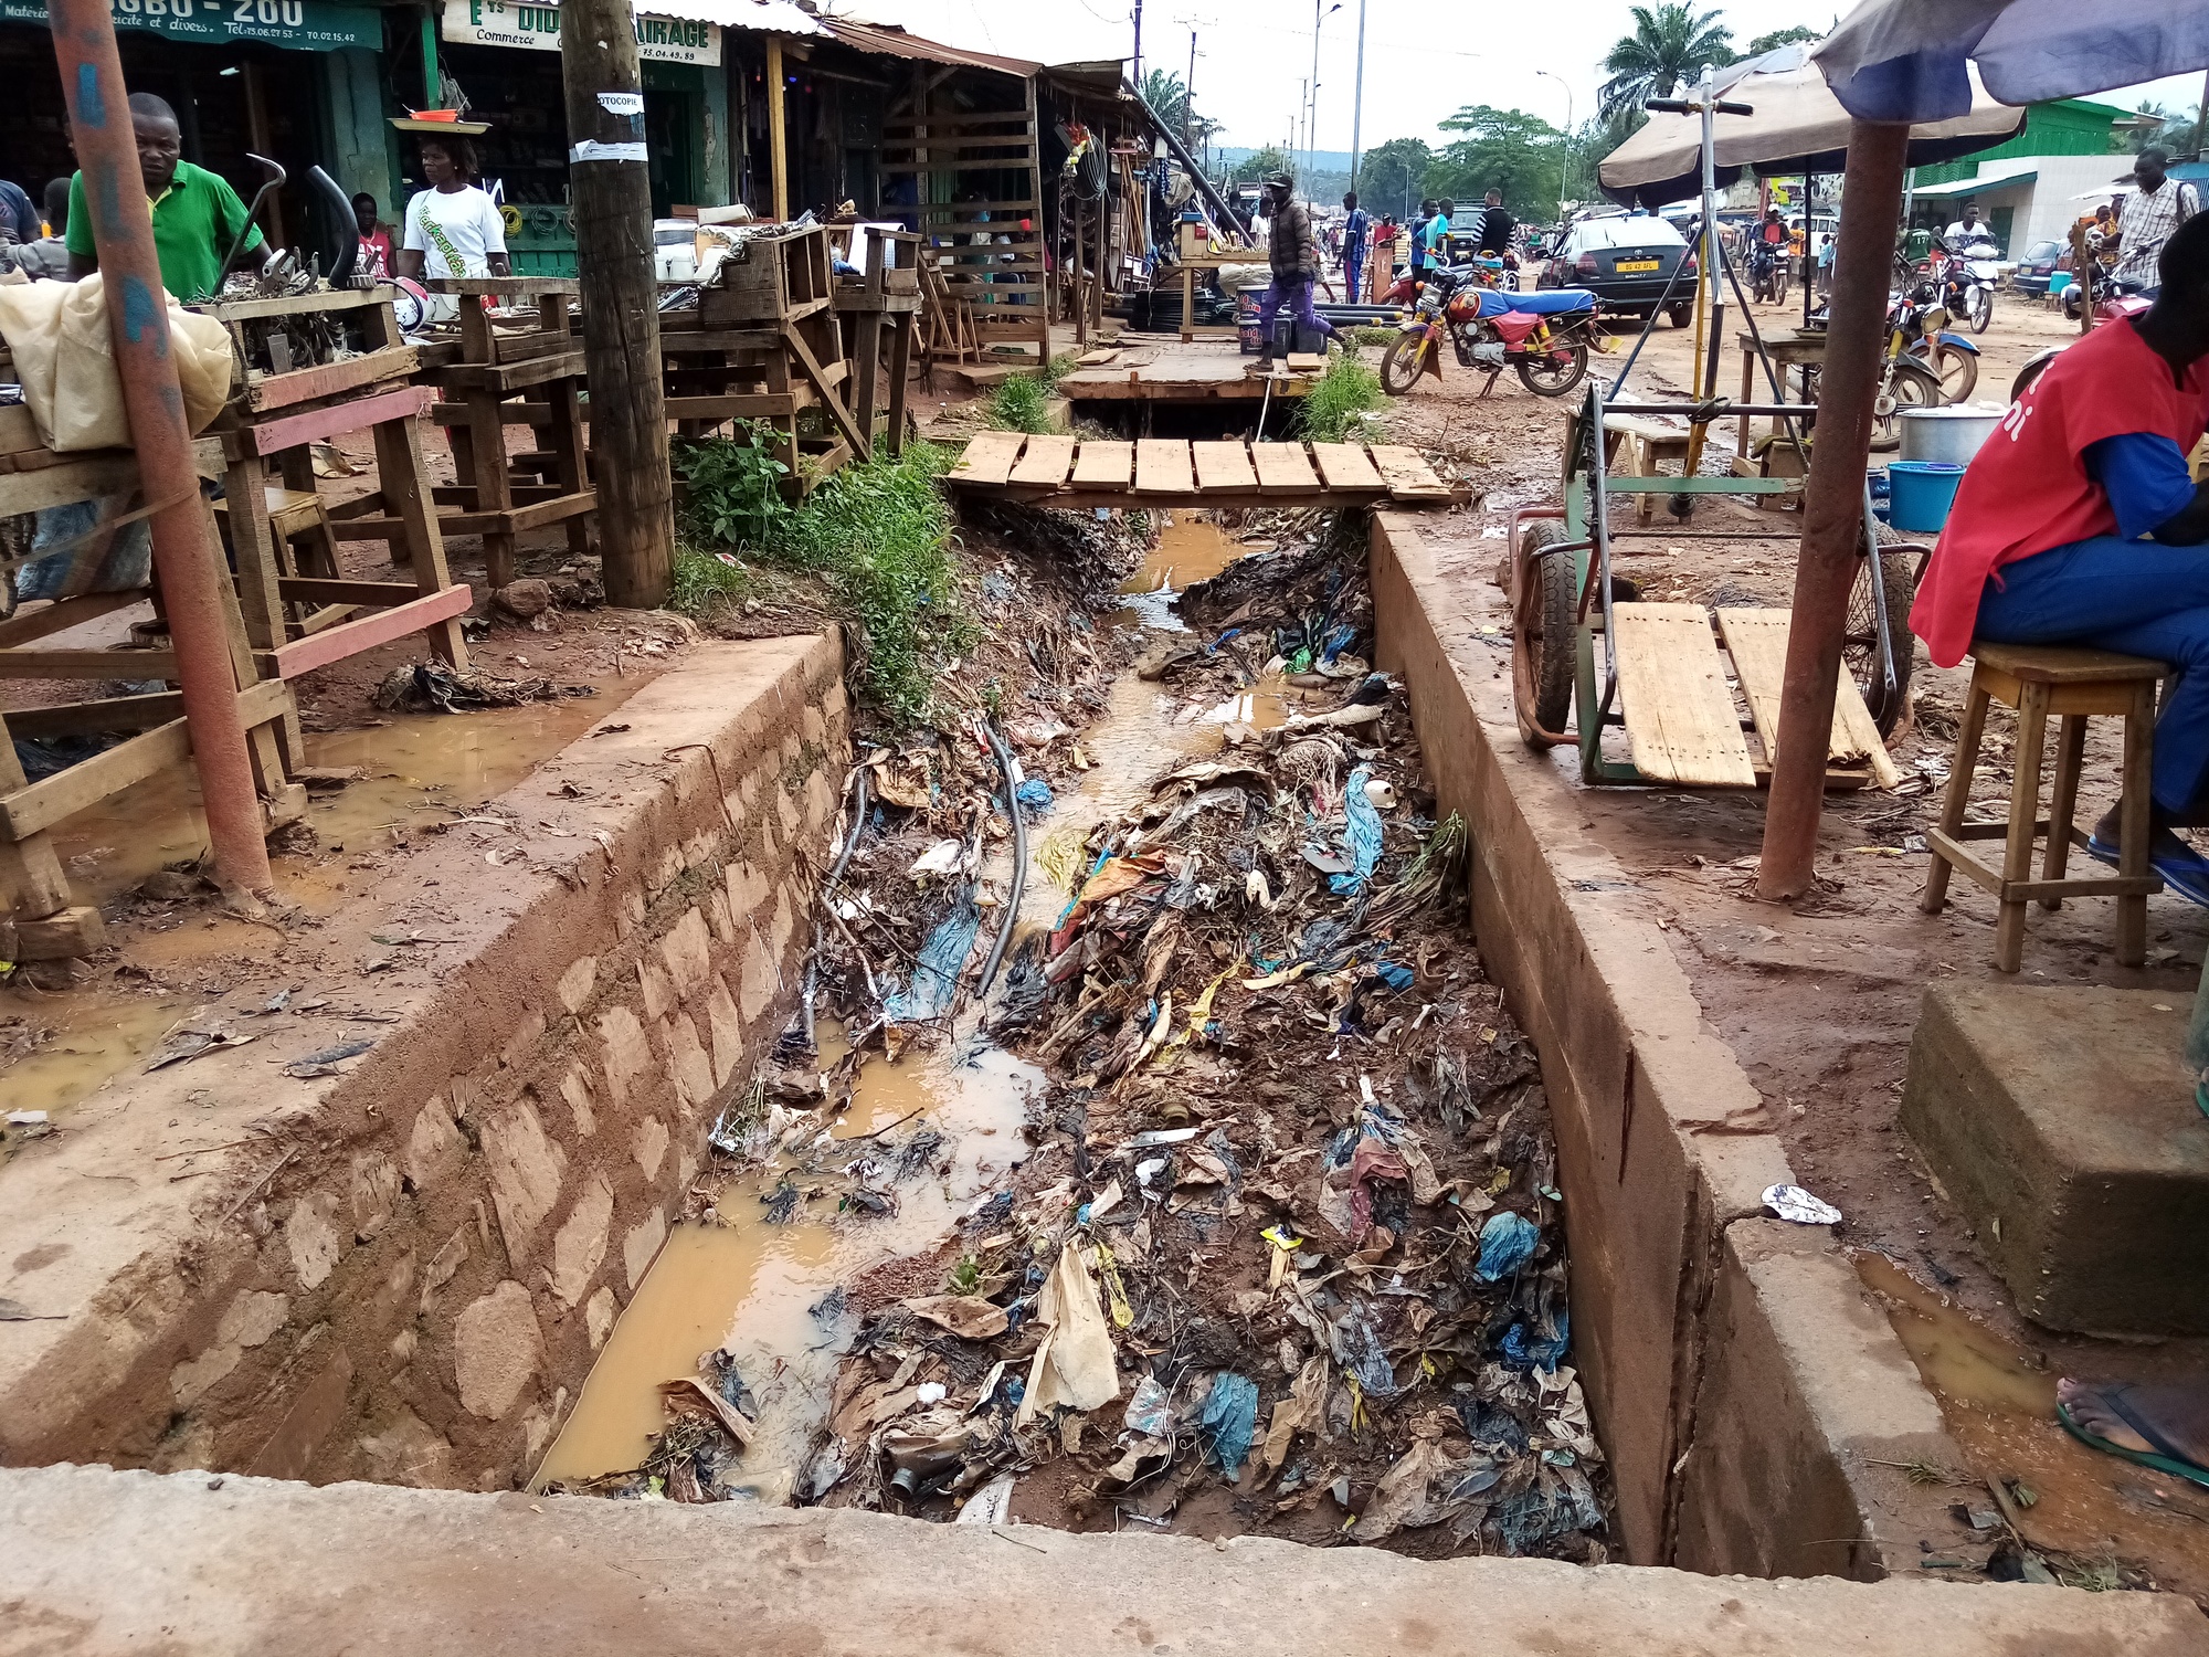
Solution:
[[[1957,488],[1911,630],[1942,667],[1973,638],[2092,645],[2171,665],[2156,718],[2149,864],[2209,906],[2209,486],[2187,455],[2209,424],[2209,212],[2163,247],[2163,292],[2103,323],[2026,391]],[[2116,862],[2118,813],[2088,851]]]

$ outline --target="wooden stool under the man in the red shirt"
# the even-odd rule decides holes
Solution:
[[[2114,650],[2061,650],[2054,645],[1970,647],[1970,703],[1964,707],[1964,729],[1955,740],[1955,769],[1942,800],[1940,826],[1926,831],[1933,868],[1920,908],[1937,915],[1948,897],[1948,873],[1964,870],[2001,904],[1995,924],[1995,970],[2017,972],[2026,950],[2026,904],[2061,908],[2065,897],[2116,899],[2116,959],[2141,965],[2147,959],[2147,895],[2163,882],[2147,868],[2147,753],[2156,722],[2156,680],[2169,667],[2143,656],[2118,656]],[[1970,804],[1970,773],[1979,762],[1979,738],[1986,733],[1986,705],[1999,700],[2017,709],[2017,760],[2010,782],[2010,820],[1964,822]],[[2054,798],[2041,817],[2041,749],[2048,740],[2048,716],[2061,716],[2057,736]],[[2063,864],[2072,844],[2085,846],[2088,835],[2072,824],[2079,804],[2079,764],[2085,756],[2085,722],[2096,714],[2125,720],[2123,775],[2123,848],[2116,875],[2065,877]],[[2032,875],[2032,840],[2048,835],[2041,877]],[[1999,840],[2001,868],[1977,859],[1964,842]]]

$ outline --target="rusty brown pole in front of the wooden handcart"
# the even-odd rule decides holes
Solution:
[[[1803,486],[1803,552],[1787,627],[1765,851],[1756,868],[1756,895],[1767,901],[1800,897],[1816,879],[1825,758],[1849,588],[1856,585],[1864,466],[1886,338],[1886,272],[1909,141],[1911,130],[1902,124],[1849,122],[1849,170],[1840,190],[1847,210],[1833,247],[1831,320],[1818,376],[1818,442]]]

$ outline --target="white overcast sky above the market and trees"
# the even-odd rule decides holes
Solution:
[[[1321,150],[1350,148],[1356,82],[1359,2],[1341,0],[1319,31]],[[1332,7],[1336,0],[1319,0]],[[1127,57],[1133,42],[1129,0],[835,0],[877,22],[897,22],[954,46],[1040,62]],[[1754,0],[1723,7],[1734,44],[1772,29],[1829,29],[1847,4]],[[1507,0],[1500,7],[1436,0],[1365,0],[1365,124],[1372,148],[1392,137],[1440,139],[1436,130],[1462,104],[1524,108],[1557,126],[1595,108],[1597,68],[1610,42],[1628,33],[1626,0]],[[1297,117],[1312,73],[1310,0],[1146,0],[1146,68],[1188,73],[1188,33],[1197,31],[1197,110],[1226,122],[1222,144],[1279,144]],[[1549,73],[1535,73],[1535,66]],[[2132,108],[2156,97],[2187,115],[2200,77],[2156,82],[2101,95]]]

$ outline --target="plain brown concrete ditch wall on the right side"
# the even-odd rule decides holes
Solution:
[[[1542,1056],[1573,1250],[1573,1363],[1637,1564],[1880,1577],[1959,1540],[1895,1463],[1964,1465],[1886,1317],[1825,1228],[1761,1220],[1794,1182],[1761,1096],[1703,1021],[1635,882],[1582,833],[1577,775],[1511,711],[1507,641],[1414,515],[1372,532],[1381,667],[1401,674],[1440,811],[1465,817],[1480,959]],[[1458,524],[1449,519],[1447,524]],[[1440,539],[1440,530],[1438,537]]]

